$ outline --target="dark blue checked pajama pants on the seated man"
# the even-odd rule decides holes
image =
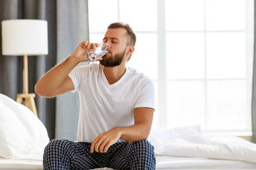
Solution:
[[[90,152],[90,142],[51,140],[43,154],[43,169],[156,169],[154,147],[147,141],[117,142],[107,153]]]

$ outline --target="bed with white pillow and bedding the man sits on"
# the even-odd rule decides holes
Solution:
[[[149,141],[156,169],[256,169],[255,144],[240,137],[206,137],[199,126],[152,130]],[[48,142],[41,120],[0,94],[0,170],[43,169]]]

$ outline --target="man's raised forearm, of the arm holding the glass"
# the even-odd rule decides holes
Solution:
[[[36,84],[36,93],[40,96],[50,96],[50,94],[53,94],[78,63],[78,61],[70,56],[53,67],[53,69],[50,69]]]

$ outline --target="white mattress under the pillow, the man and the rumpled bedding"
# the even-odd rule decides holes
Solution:
[[[0,169],[42,170],[42,155],[31,154],[12,159],[0,158]],[[256,164],[223,159],[156,156],[156,169],[256,169]]]

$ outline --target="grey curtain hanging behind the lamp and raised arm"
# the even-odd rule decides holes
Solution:
[[[48,21],[48,55],[28,56],[29,93],[34,93],[34,86],[43,74],[89,37],[86,0],[0,0],[0,21],[9,19]],[[0,93],[16,100],[16,94],[23,92],[23,57],[1,55],[0,72]],[[50,139],[76,140],[78,94],[69,92],[57,98],[36,96],[36,108]]]

